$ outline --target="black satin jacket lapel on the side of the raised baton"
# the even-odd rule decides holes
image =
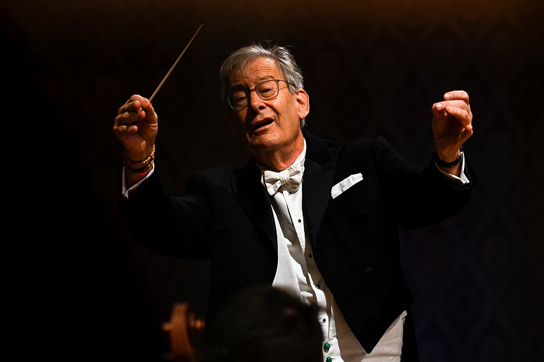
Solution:
[[[274,225],[274,215],[270,207],[269,196],[260,183],[260,170],[255,162],[251,161],[242,170],[237,182],[237,187],[234,187],[234,193],[244,209],[247,217],[258,233],[269,241],[274,250],[277,251],[277,236],[276,227]]]

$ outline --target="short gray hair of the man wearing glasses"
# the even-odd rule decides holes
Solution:
[[[244,48],[239,48],[229,55],[223,62],[219,70],[221,81],[221,100],[227,97],[227,90],[230,86],[230,76],[234,72],[244,73],[247,65],[252,60],[258,58],[270,58],[274,60],[279,71],[289,83],[289,92],[295,93],[298,88],[304,88],[304,77],[300,68],[295,62],[293,55],[284,46],[269,45],[265,46],[260,43],[253,43]],[[305,125],[305,120],[300,120],[300,128]]]

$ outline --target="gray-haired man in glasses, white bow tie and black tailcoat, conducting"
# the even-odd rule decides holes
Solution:
[[[149,100],[133,95],[119,108],[120,206],[133,238],[211,260],[208,319],[231,293],[272,285],[319,306],[324,361],[417,361],[398,228],[440,222],[470,198],[467,93],[432,105],[435,148],[419,167],[381,137],[339,146],[307,132],[309,97],[284,47],[241,48],[220,77],[225,120],[251,161],[193,173],[182,196],[168,194],[155,166]]]

